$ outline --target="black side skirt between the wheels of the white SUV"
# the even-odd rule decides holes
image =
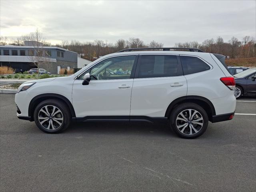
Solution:
[[[167,117],[149,117],[149,116],[86,116],[72,118],[73,122],[134,122],[134,121],[144,121],[150,123],[156,122],[168,122]]]

